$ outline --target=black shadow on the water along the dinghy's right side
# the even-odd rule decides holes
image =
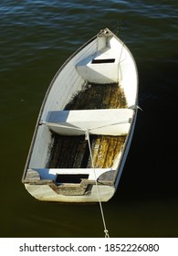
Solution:
[[[131,169],[130,185],[134,180],[136,190],[147,196],[177,197],[176,63],[160,59],[150,61],[145,68],[140,67],[142,112],[125,169]]]

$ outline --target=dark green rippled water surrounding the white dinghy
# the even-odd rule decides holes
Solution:
[[[37,201],[21,176],[50,80],[73,51],[120,20],[143,112],[118,191],[103,204],[107,228],[110,237],[178,237],[177,0],[1,1],[1,237],[104,236],[99,205]]]

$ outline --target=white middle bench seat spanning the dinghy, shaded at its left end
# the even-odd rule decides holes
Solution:
[[[48,112],[46,124],[50,130],[61,135],[82,135],[86,130],[92,134],[125,135],[128,133],[133,110],[79,110]]]

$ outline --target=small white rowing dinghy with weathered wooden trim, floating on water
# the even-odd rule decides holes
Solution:
[[[108,201],[136,122],[130,50],[105,28],[58,70],[43,101],[22,182],[39,200]]]

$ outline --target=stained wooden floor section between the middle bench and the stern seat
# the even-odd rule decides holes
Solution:
[[[60,136],[53,134],[55,144],[48,168],[92,168],[89,145],[85,136]],[[96,168],[110,168],[126,136],[90,136],[91,152]]]

